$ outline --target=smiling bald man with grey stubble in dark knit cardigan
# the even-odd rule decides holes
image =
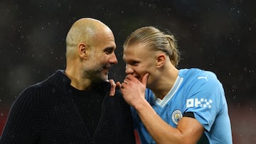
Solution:
[[[117,63],[110,28],[81,18],[66,45],[66,69],[23,90],[0,143],[135,143],[129,106],[107,78]]]

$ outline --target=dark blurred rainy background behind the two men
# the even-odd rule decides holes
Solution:
[[[142,26],[178,39],[178,68],[217,74],[228,101],[234,143],[256,143],[256,6],[254,0],[0,1],[0,133],[11,104],[25,87],[65,69],[65,35],[82,17],[109,26],[122,81],[122,43]]]

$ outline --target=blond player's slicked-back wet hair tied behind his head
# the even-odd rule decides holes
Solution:
[[[129,45],[143,43],[149,50],[161,50],[169,55],[171,63],[176,67],[180,60],[177,41],[174,35],[166,34],[154,26],[146,26],[137,29],[124,41],[124,48]]]

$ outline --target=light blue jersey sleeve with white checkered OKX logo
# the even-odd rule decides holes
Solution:
[[[222,84],[213,72],[201,72],[188,86],[186,111],[210,131],[218,113],[223,111],[225,95]],[[224,99],[223,99],[224,98]]]

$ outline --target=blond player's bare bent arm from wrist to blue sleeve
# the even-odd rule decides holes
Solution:
[[[178,121],[177,128],[174,128],[166,123],[146,100],[134,108],[156,143],[197,143],[203,134],[203,126],[196,118],[183,117]]]

